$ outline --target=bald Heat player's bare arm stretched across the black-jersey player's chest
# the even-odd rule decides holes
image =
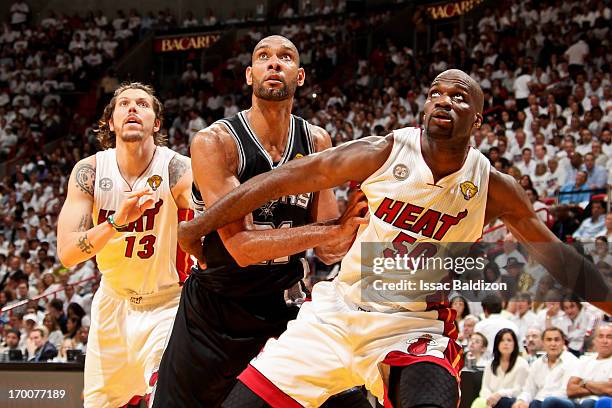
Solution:
[[[361,182],[383,165],[392,147],[392,135],[384,138],[371,136],[292,160],[231,190],[202,216],[181,224],[179,236],[181,229],[184,236],[209,234],[284,195],[321,191],[349,180]],[[315,245],[321,245],[321,242]]]

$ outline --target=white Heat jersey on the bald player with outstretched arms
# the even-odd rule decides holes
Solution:
[[[453,254],[449,246],[436,243],[477,241],[484,225],[491,166],[483,154],[470,148],[461,169],[434,184],[421,154],[421,129],[395,130],[393,139],[385,164],[361,184],[370,221],[342,260],[336,283],[348,300],[364,308],[423,312],[435,291],[419,290],[419,285],[406,291],[381,290],[380,281],[439,282],[448,271],[432,270],[433,266],[413,267],[411,273],[394,266],[381,271],[381,258],[422,255],[443,259]],[[451,252],[457,247],[466,245],[455,245]],[[376,262],[379,268],[374,268]]]

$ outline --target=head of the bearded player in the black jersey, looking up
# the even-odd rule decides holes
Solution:
[[[300,56],[291,41],[274,35],[255,46],[251,66],[246,69],[246,82],[256,97],[266,101],[292,98],[304,79]]]

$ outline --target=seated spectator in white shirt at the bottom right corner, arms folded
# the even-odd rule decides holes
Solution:
[[[602,397],[612,395],[612,326],[595,331],[596,356],[580,359],[567,382],[567,397],[548,397],[542,408],[593,408]]]

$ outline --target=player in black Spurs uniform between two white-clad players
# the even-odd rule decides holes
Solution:
[[[252,107],[213,123],[192,142],[196,207],[212,205],[258,174],[331,147],[327,132],[291,115],[296,88],[304,83],[291,41],[261,40],[246,80],[253,87]],[[266,340],[295,318],[297,308],[287,306],[284,293],[304,277],[304,251],[315,248],[324,262],[339,261],[365,222],[358,215],[363,208],[365,203],[354,200],[338,222],[324,223],[339,215],[333,191],[324,190],[270,201],[209,234],[203,244],[197,231],[182,228],[181,246],[201,262],[183,287],[153,407],[220,406]],[[343,406],[367,404],[358,393],[342,398],[357,399]]]

